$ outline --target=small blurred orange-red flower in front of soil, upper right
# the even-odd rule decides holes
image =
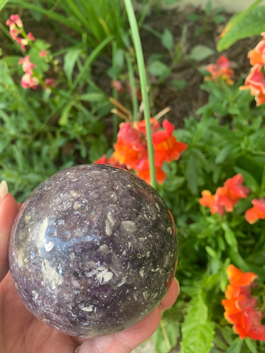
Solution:
[[[221,77],[227,84],[234,83],[232,80],[234,71],[230,69],[230,62],[224,55],[220,56],[220,58],[216,61],[216,64],[207,65],[206,70],[211,74],[211,76],[205,77],[206,81],[218,81],[219,77]]]

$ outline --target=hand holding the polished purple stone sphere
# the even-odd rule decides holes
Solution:
[[[33,316],[16,293],[8,272],[8,241],[18,211],[15,199],[0,184],[0,347],[2,353],[129,353],[147,340],[159,326],[162,310],[177,299],[175,279],[160,306],[132,327],[99,338],[77,338],[62,334]],[[162,309],[162,310],[161,310]],[[75,349],[78,348],[78,351]]]

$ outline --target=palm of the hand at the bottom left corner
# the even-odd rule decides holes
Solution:
[[[0,312],[4,352],[20,353],[23,347],[23,353],[73,353],[81,344],[35,318],[18,297],[10,273],[0,283]]]

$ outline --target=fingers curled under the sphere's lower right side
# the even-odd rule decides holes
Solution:
[[[179,284],[173,280],[161,304],[132,327],[114,335],[88,339],[81,345],[79,353],[130,353],[153,335],[159,326],[162,310],[167,310],[177,299]]]

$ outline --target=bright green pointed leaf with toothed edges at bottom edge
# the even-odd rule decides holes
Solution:
[[[181,327],[181,353],[209,353],[213,343],[214,325],[208,319],[208,308],[199,292]]]

